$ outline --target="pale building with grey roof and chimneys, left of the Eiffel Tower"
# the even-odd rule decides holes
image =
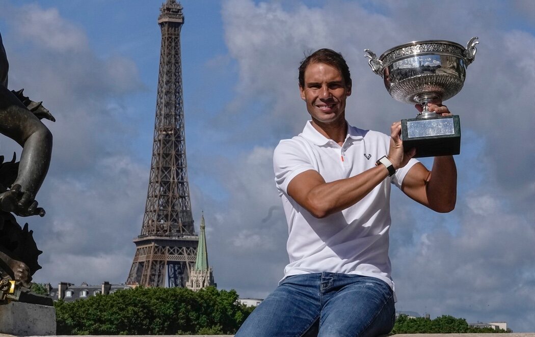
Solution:
[[[121,289],[129,289],[126,285],[117,285],[110,284],[109,282],[104,282],[101,285],[92,286],[88,285],[86,282],[82,282],[81,285],[76,286],[72,283],[60,282],[57,288],[53,288],[48,285],[45,286],[49,291],[50,297],[52,300],[64,300],[65,302],[74,302],[76,300],[85,299],[91,296],[96,296],[100,294],[108,295],[116,292]]]

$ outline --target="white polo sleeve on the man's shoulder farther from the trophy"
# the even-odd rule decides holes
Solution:
[[[279,191],[287,193],[290,181],[308,170],[317,171],[299,142],[294,139],[281,140],[273,153],[273,171]]]

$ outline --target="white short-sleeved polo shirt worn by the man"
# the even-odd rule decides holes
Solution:
[[[407,172],[418,163],[416,159],[387,177],[361,201],[323,219],[312,216],[287,193],[288,183],[304,171],[315,170],[325,182],[331,182],[369,170],[388,154],[389,142],[390,137],[383,133],[348,125],[340,147],[320,134],[311,121],[301,134],[279,142],[273,167],[288,221],[285,278],[317,272],[358,274],[384,280],[394,289],[388,258],[390,183],[401,188]]]

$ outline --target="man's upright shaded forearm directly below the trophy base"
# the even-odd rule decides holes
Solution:
[[[429,207],[437,212],[450,212],[457,200],[457,168],[453,156],[435,157],[426,184]]]

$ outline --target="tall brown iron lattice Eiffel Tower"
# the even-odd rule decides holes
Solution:
[[[185,287],[195,266],[199,237],[193,226],[186,165],[182,24],[182,5],[166,0],[158,17],[162,47],[147,203],[141,234],[134,239],[128,285]]]

